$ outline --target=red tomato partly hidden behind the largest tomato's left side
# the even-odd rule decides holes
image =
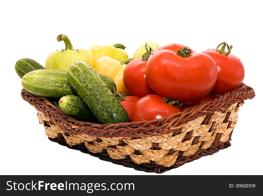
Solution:
[[[149,87],[145,78],[146,62],[142,57],[136,58],[128,63],[123,71],[123,83],[129,94],[144,97],[146,95],[155,94]]]

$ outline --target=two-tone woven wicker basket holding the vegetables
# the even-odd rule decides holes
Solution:
[[[163,173],[230,146],[239,107],[255,93],[242,84],[214,101],[162,119],[103,125],[76,121],[24,89],[21,96],[36,108],[51,141],[115,164]]]

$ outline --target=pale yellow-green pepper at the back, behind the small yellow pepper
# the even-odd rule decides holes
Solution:
[[[97,59],[108,56],[111,57],[117,61],[121,61],[124,58],[128,58],[128,54],[124,51],[126,47],[122,44],[114,44],[111,45],[94,45],[91,47],[91,53],[93,55],[93,62],[97,61]]]

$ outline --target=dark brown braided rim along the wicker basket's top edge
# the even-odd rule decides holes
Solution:
[[[151,121],[119,124],[96,124],[77,121],[74,118],[65,115],[61,109],[56,108],[50,101],[48,101],[47,98],[33,95],[25,89],[22,89],[21,96],[25,101],[48,117],[52,124],[58,126],[65,132],[78,135],[87,134],[98,138],[139,138],[169,134],[174,132],[175,129],[183,127],[187,122],[193,121],[198,117],[213,112],[224,112],[233,104],[243,102],[247,99],[252,99],[255,97],[255,93],[253,88],[242,83],[239,88],[236,88],[232,92],[228,92],[206,104],[187,108],[183,112]]]

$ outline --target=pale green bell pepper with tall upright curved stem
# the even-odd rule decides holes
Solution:
[[[45,68],[53,70],[68,70],[72,63],[76,61],[84,61],[93,65],[93,57],[90,50],[86,48],[74,50],[68,36],[60,34],[57,36],[57,41],[65,42],[65,50],[57,50],[50,55],[46,60]]]

